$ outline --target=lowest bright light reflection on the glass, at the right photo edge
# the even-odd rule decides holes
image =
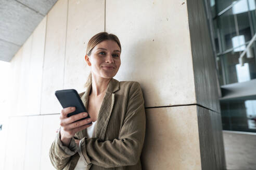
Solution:
[[[245,101],[248,129],[256,129],[256,100]]]

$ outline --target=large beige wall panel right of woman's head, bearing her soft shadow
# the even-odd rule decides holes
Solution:
[[[186,1],[106,1],[106,31],[121,41],[116,78],[139,81],[145,106],[196,103]]]

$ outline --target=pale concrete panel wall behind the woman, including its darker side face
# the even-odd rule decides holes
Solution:
[[[215,74],[214,62],[202,1],[197,4],[200,10],[180,0],[59,0],[11,61],[15,105],[10,110],[5,168],[54,169],[48,150],[61,110],[54,92],[85,90],[90,70],[84,62],[86,43],[107,31],[122,45],[122,64],[114,78],[138,81],[144,92],[143,168],[223,169],[216,82],[209,80]],[[192,15],[197,12],[200,15]],[[193,31],[200,24],[205,37],[196,39]],[[198,47],[204,53],[197,55]],[[14,150],[19,153],[12,155]]]

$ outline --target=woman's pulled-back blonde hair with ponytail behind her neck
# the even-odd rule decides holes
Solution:
[[[92,50],[94,49],[94,47],[101,43],[102,41],[105,41],[105,40],[113,40],[115,41],[118,46],[120,47],[120,51],[121,51],[121,44],[120,44],[120,41],[118,39],[118,37],[114,34],[109,34],[107,32],[101,32],[101,33],[98,33],[96,35],[94,35],[89,41],[88,41],[88,44],[87,44],[87,49],[86,49],[86,54],[88,56],[91,55],[92,53]],[[84,87],[88,87],[89,84],[92,83],[92,72],[89,74],[89,76],[87,77],[87,80],[84,84]]]

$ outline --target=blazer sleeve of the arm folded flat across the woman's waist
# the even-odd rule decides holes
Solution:
[[[102,141],[85,137],[82,154],[87,163],[105,168],[135,165],[140,159],[146,129],[143,93],[138,82],[129,91],[127,109],[118,139]]]

